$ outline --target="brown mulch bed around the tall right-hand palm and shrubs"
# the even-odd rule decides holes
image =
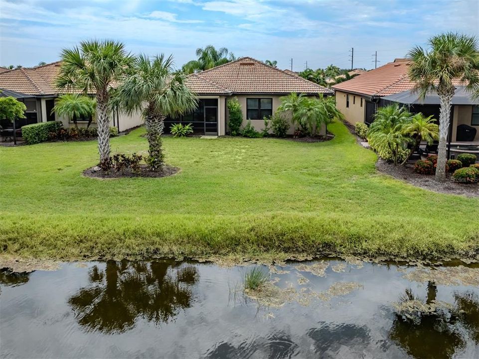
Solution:
[[[451,174],[447,174],[445,182],[437,182],[433,176],[420,175],[414,172],[414,164],[405,164],[404,166],[394,166],[386,161],[379,159],[376,163],[376,169],[395,179],[404,180],[412,185],[429,189],[440,193],[459,194],[466,197],[479,197],[479,183],[457,183],[451,179]]]

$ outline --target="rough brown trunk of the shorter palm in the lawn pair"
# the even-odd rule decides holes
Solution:
[[[164,128],[164,116],[148,115],[145,118],[145,127],[147,128],[148,140],[148,159],[147,163],[152,171],[159,171],[163,166],[163,151],[161,149]]]

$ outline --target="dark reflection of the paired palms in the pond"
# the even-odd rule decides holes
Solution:
[[[97,266],[92,268],[91,284],[80,289],[68,303],[79,324],[104,333],[125,332],[134,327],[138,318],[168,322],[180,309],[190,307],[190,286],[197,280],[193,266],[179,269],[176,276],[170,275],[168,269],[176,264],[109,260],[104,271]],[[179,275],[180,272],[187,275]],[[181,280],[183,277],[187,281]]]

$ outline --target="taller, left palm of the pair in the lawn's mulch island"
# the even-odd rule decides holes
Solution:
[[[80,47],[61,51],[56,87],[67,91],[95,93],[97,99],[98,152],[100,168],[110,168],[109,101],[112,84],[124,75],[133,61],[121,42],[82,41]]]

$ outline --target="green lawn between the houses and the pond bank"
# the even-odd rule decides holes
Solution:
[[[0,148],[0,250],[37,258],[474,256],[479,200],[378,174],[341,123],[325,143],[164,139],[162,179],[90,179],[95,141]],[[143,129],[113,152],[145,153]]]

